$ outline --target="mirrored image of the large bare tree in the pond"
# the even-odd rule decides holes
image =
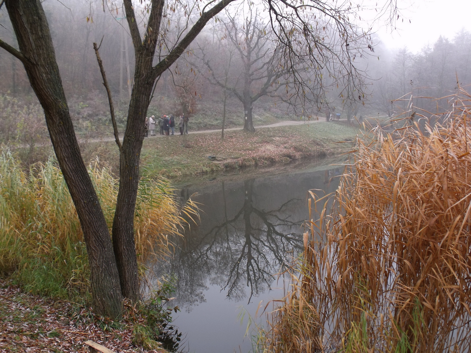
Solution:
[[[266,211],[253,207],[253,182],[255,179],[244,181],[244,206],[235,217],[227,219],[226,195],[222,183],[225,207],[225,221],[213,227],[206,236],[212,237],[206,256],[210,261],[211,253],[226,252],[228,257],[224,273],[226,281],[222,289],[227,289],[227,297],[240,300],[246,296],[244,286],[250,289],[248,302],[252,296],[269,288],[273,281],[273,273],[283,266],[286,253],[295,248],[300,249],[300,234],[284,233],[280,228],[300,228],[301,222],[293,222],[289,214],[289,205],[296,199],[286,201],[275,210]],[[240,219],[244,222],[240,222]],[[229,232],[229,227],[232,233]],[[221,233],[225,233],[221,237]],[[224,239],[225,243],[220,240]],[[222,283],[218,283],[222,284]]]

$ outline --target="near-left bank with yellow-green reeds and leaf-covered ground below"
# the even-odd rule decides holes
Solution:
[[[97,162],[90,164],[89,175],[111,231],[118,180],[109,168]],[[141,279],[148,274],[146,261],[173,250],[169,236],[180,235],[186,222],[180,212],[192,213],[191,202],[182,210],[173,194],[169,181],[163,178],[143,177],[139,183],[134,225]],[[122,327],[134,347],[175,350],[179,334],[168,323],[171,311],[178,308],[166,307],[174,288],[171,281],[163,281],[158,289],[151,288],[143,295],[146,300],[125,305],[124,319],[113,322],[103,321],[86,309],[91,302],[89,275],[80,222],[55,160],[33,164],[26,171],[13,153],[1,152],[0,317],[7,319],[0,325],[0,332],[7,338],[0,337],[0,352],[23,352],[27,347],[34,348],[32,352],[55,352],[57,337],[64,344],[61,352],[76,352],[77,336],[94,339],[90,325],[104,325],[102,333],[109,325]],[[41,308],[34,304],[44,302],[40,297],[51,298],[50,305]],[[70,302],[79,313],[52,310]],[[17,310],[19,307],[22,309]],[[75,315],[73,323],[65,320],[71,315]],[[85,328],[89,331],[84,333]],[[124,333],[116,335],[115,341],[122,341]],[[129,342],[126,352],[134,349]]]

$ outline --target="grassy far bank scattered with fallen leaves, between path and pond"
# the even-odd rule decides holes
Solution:
[[[255,133],[220,131],[186,136],[147,138],[142,165],[152,175],[166,177],[209,173],[228,168],[262,165],[308,157],[333,156],[348,150],[357,130],[334,122],[316,122],[276,128],[259,128]],[[208,156],[215,156],[209,160]]]

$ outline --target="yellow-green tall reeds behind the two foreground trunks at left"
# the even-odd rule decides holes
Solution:
[[[97,160],[89,174],[111,232],[118,180]],[[168,180],[141,180],[135,216],[141,276],[147,259],[171,253],[169,237],[181,235],[182,213],[195,216],[194,209],[192,201],[180,209]],[[89,297],[80,222],[53,158],[25,171],[11,152],[0,154],[0,274],[41,295],[81,302]]]

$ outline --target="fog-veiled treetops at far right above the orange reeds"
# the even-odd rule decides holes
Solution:
[[[453,40],[440,36],[417,54],[407,48],[391,53],[382,47],[377,53],[380,60],[371,60],[370,65],[371,102],[389,116],[406,109],[411,96],[414,106],[437,112],[437,101],[418,97],[448,97],[438,101],[440,110],[458,84],[470,90],[466,86],[471,84],[471,33],[465,30]]]

